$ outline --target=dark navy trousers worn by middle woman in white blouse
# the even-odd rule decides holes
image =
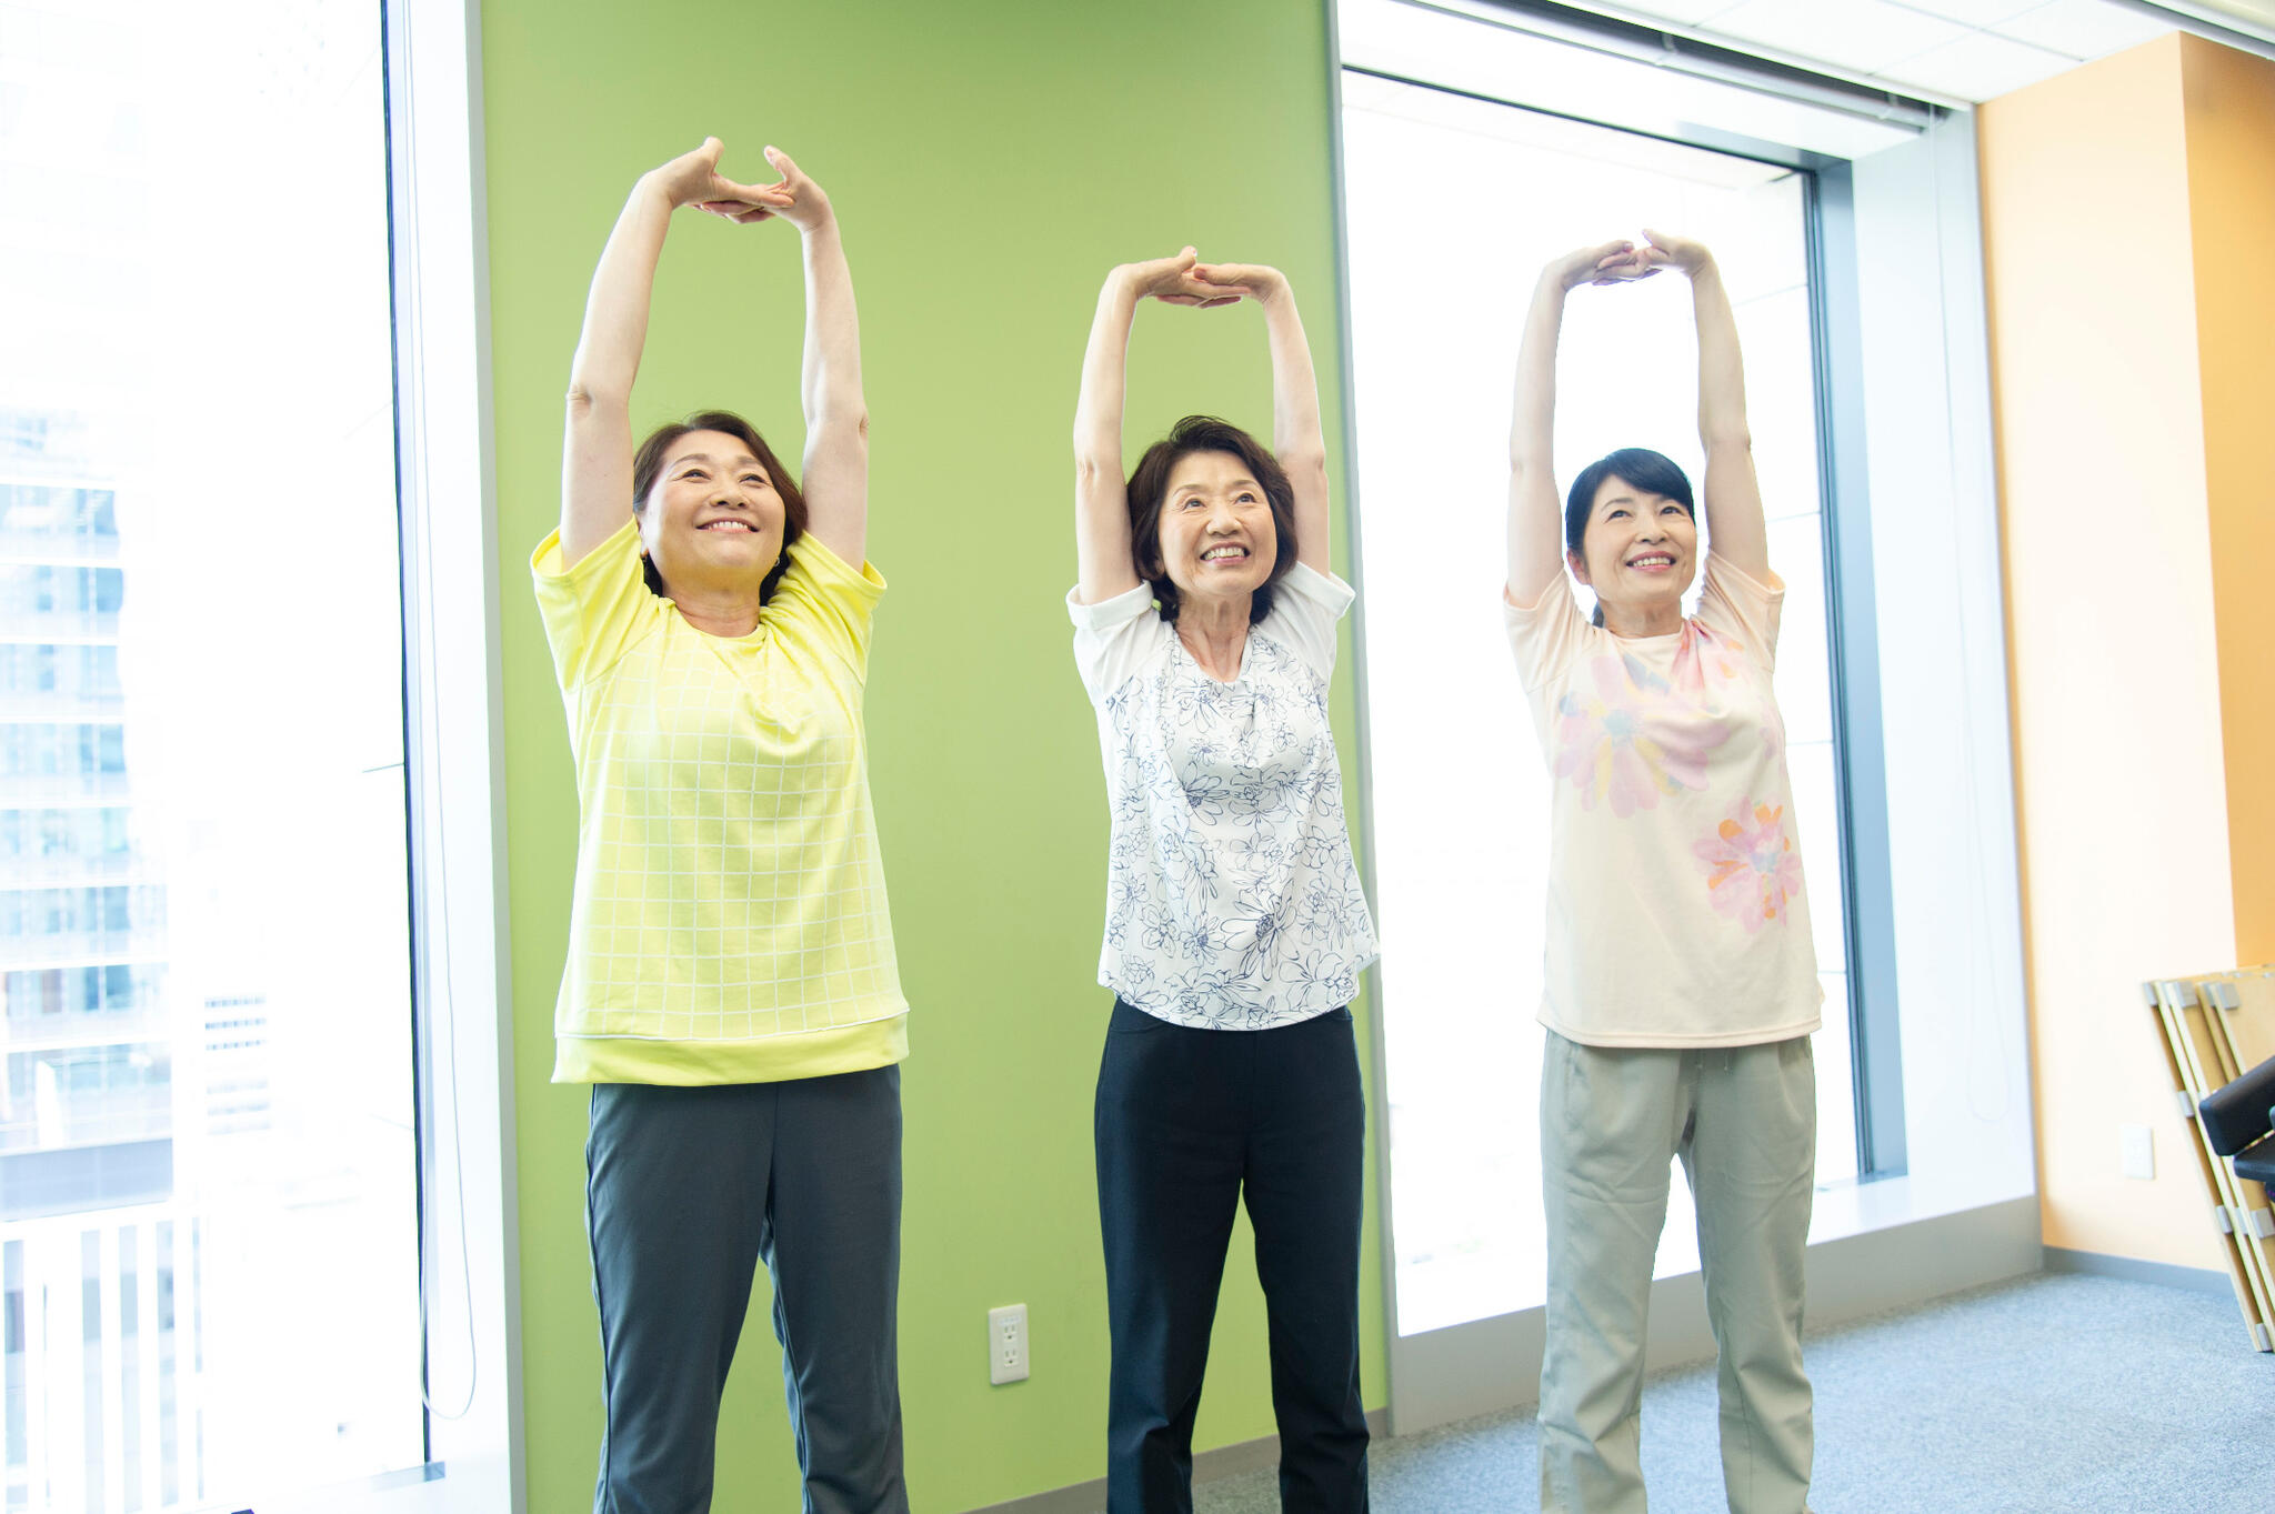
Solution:
[[[1192,1419],[1242,1198],[1272,1328],[1281,1509],[1367,1507],[1365,1130],[1349,1009],[1276,1030],[1188,1030],[1115,1003],[1097,1100],[1108,1514],[1192,1509]]]

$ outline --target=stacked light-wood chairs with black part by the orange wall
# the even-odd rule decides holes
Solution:
[[[2141,984],[2257,1350],[2275,1350],[2275,968]]]

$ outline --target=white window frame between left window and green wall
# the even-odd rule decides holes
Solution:
[[[428,1459],[275,1507],[491,1514],[526,1475],[480,0],[380,25]]]

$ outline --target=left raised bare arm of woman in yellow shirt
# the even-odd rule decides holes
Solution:
[[[585,296],[585,330],[569,361],[569,423],[562,439],[562,564],[610,539],[632,514],[632,377],[648,339],[648,296],[664,230],[680,205],[730,218],[764,218],[774,189],[719,177],[719,139],[651,168],[617,214]]]

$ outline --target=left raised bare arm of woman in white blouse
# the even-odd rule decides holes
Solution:
[[[1074,598],[1110,600],[1138,587],[1131,557],[1128,484],[1122,477],[1122,398],[1128,389],[1131,323],[1138,300],[1167,305],[1224,305],[1238,296],[1210,291],[1192,277],[1194,252],[1122,264],[1099,289],[1083,350],[1083,389],[1074,402]]]

